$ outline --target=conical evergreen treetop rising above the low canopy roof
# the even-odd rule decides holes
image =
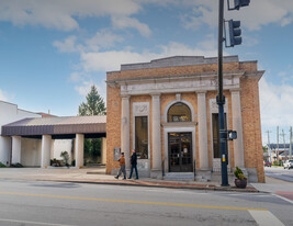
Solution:
[[[78,108],[78,115],[105,115],[105,103],[103,98],[98,93],[95,86],[91,87],[86,99],[87,102],[82,102]]]

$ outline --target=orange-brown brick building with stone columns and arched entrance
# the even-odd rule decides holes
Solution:
[[[228,171],[238,166],[250,182],[264,182],[257,61],[224,57]],[[217,58],[174,56],[122,65],[106,74],[106,172],[119,169],[116,151],[138,154],[142,177],[162,171],[221,180],[218,148]]]

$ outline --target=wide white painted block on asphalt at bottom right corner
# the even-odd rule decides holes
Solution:
[[[269,211],[248,211],[259,226],[285,226]]]

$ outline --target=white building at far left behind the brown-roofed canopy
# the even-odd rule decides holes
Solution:
[[[26,167],[41,166],[42,139],[18,135],[3,136],[2,126],[24,118],[42,116],[50,115],[21,110],[16,104],[0,101],[0,162],[8,166],[18,162]],[[66,150],[70,155],[72,139],[53,139],[50,147],[50,159],[63,159],[60,152]],[[71,162],[71,156],[69,162]]]

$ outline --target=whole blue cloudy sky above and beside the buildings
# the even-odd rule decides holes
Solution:
[[[233,0],[230,0],[233,5]],[[243,44],[224,48],[258,60],[262,143],[293,126],[293,1],[251,0],[228,11]],[[105,72],[170,56],[217,56],[217,0],[0,0],[0,100],[33,112],[77,115]],[[280,136],[280,143],[283,137]]]

